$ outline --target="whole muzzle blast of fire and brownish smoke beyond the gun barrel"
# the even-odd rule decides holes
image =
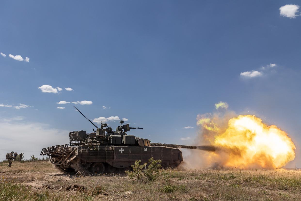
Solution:
[[[215,112],[197,115],[194,145],[199,150],[193,149],[185,157],[185,168],[275,169],[295,158],[296,147],[283,130],[264,124],[255,115],[221,112],[218,109],[223,102],[216,105]]]

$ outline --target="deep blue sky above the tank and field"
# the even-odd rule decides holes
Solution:
[[[285,130],[297,147],[289,165],[301,167],[301,16],[280,14],[287,4],[301,3],[2,2],[0,158],[11,149],[38,155],[68,143],[69,131],[91,131],[71,102],[92,101],[77,102],[92,120],[127,118],[144,127],[131,134],[152,142],[192,144],[197,114],[224,101]]]

